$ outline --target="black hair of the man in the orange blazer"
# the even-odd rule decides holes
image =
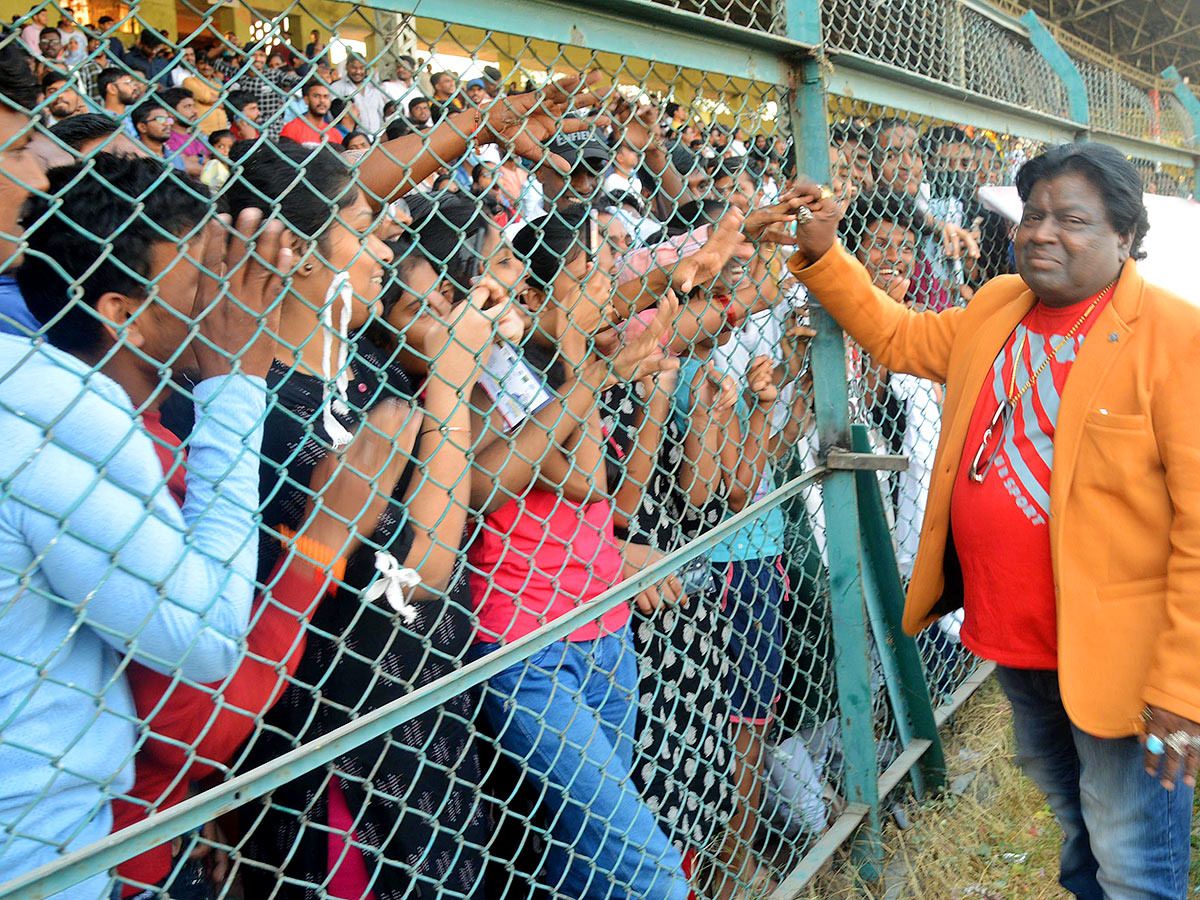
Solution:
[[[1022,203],[1038,181],[1060,175],[1082,175],[1100,194],[1104,210],[1117,234],[1133,236],[1129,256],[1145,259],[1141,241],[1150,230],[1150,217],[1142,203],[1145,186],[1141,175],[1120,150],[1094,140],[1060,144],[1034,156],[1016,174],[1016,193]]]

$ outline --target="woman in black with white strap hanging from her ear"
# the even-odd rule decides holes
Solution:
[[[294,683],[247,751],[259,764],[458,666],[470,638],[457,570],[470,444],[460,391],[479,377],[500,307],[485,313],[475,293],[487,292],[475,292],[454,340],[444,325],[428,330],[422,350],[436,361],[421,408],[409,407],[404,373],[348,337],[377,310],[391,251],[371,235],[374,215],[344,162],[329,150],[263,146],[241,161],[228,197],[235,211],[277,209],[299,259],[268,377],[263,571],[277,552],[272,535],[302,529],[308,479],[324,455],[400,420],[395,451],[414,462],[395,486],[378,486],[392,502],[361,523],[370,538],[347,560],[342,589],[316,611]],[[396,416],[395,404],[410,413]],[[404,584],[406,570],[419,584]],[[473,716],[474,696],[461,695],[245,808],[247,895],[476,895],[487,827]]]

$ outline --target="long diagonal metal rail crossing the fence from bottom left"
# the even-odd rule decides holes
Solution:
[[[379,707],[341,728],[298,746],[269,763],[224,781],[176,806],[157,812],[134,826],[113,832],[107,838],[68,853],[19,878],[0,884],[0,898],[37,900],[72,884],[100,875],[119,863],[199,828],[217,816],[270,793],[288,781],[332,762],[348,750],[360,746],[422,713],[444,704],[451,697],[486,682],[509,666],[564,640],[581,625],[604,616],[619,604],[629,602],[644,588],[655,584],[685,563],[695,559],[734,532],[766,516],[826,474],[817,467],[791,479],[757,503],[718,524],[701,538],[667,553],[642,572],[616,584],[600,596],[581,604],[554,622],[505,644],[496,653],[443,676],[412,694]]]

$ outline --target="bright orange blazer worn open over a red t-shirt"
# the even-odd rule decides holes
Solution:
[[[979,391],[1036,299],[1004,275],[966,308],[918,313],[875,288],[840,245],[790,268],[880,365],[946,384],[904,612],[916,634],[962,605],[950,491]],[[1133,260],[1063,389],[1049,527],[1072,721],[1126,737],[1146,703],[1200,721],[1200,307],[1147,284]]]

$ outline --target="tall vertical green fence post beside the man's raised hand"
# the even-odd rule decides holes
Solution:
[[[805,43],[821,42],[818,0],[786,0],[787,36]],[[797,62],[790,109],[796,143],[797,172],[817,181],[829,176],[828,97],[821,60],[809,55]],[[846,344],[841,328],[820,308],[811,311],[817,331],[812,341],[816,421],[821,451],[850,449]],[[880,836],[878,762],[871,704],[870,650],[863,595],[863,557],[859,544],[858,498],[852,472],[833,472],[822,481],[826,546],[829,557],[832,632],[836,655],[838,704],[845,756],[846,799],[870,812],[856,838],[853,853],[866,877],[882,868]]]

